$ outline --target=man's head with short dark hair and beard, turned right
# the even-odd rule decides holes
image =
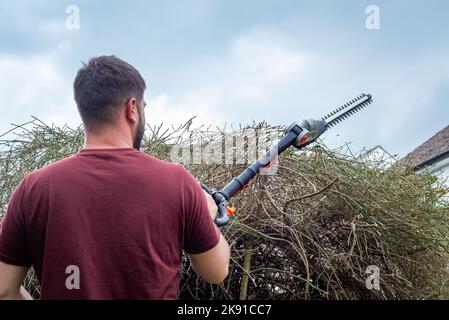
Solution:
[[[92,58],[73,83],[75,101],[86,132],[125,125],[140,148],[145,132],[145,81],[133,66],[115,56]]]

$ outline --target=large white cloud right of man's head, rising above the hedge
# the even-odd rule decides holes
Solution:
[[[197,116],[199,124],[220,125],[244,113],[251,117],[273,105],[276,92],[302,79],[310,61],[285,37],[260,30],[244,34],[222,56],[197,62],[186,88],[150,99],[148,122],[180,124]]]

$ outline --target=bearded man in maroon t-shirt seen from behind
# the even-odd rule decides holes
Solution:
[[[0,298],[30,298],[21,283],[33,266],[42,299],[176,299],[182,250],[204,280],[227,277],[212,198],[183,166],[138,151],[145,89],[114,56],[79,70],[85,146],[28,174],[12,195],[0,225]]]

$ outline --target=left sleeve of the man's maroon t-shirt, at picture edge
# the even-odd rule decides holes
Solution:
[[[0,221],[0,261],[17,266],[31,265],[23,207],[26,196],[25,180],[26,178],[14,191]]]

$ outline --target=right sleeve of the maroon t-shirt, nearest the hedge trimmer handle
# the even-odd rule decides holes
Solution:
[[[188,254],[206,252],[220,241],[221,233],[209,213],[198,181],[183,168],[184,246]]]

